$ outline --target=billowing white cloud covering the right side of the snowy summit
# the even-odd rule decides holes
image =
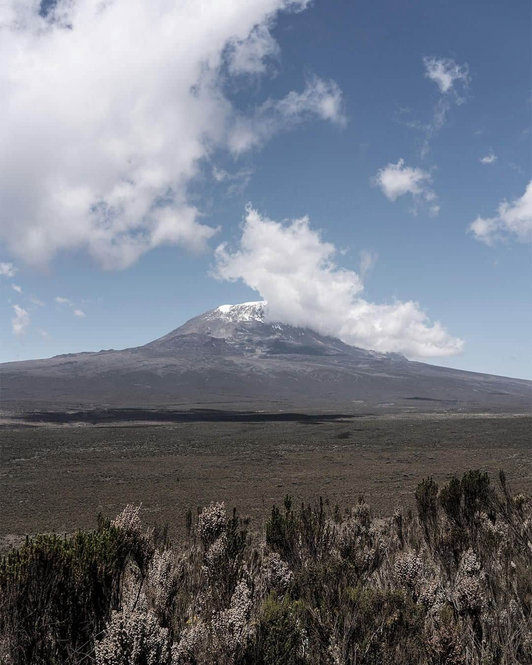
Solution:
[[[356,272],[334,263],[336,247],[311,228],[308,217],[279,223],[248,206],[239,245],[215,251],[213,275],[242,280],[267,301],[269,321],[311,327],[350,344],[409,356],[460,353],[464,342],[418,303],[378,305],[362,298]]]

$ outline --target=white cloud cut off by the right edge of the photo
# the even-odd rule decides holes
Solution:
[[[469,224],[468,231],[490,246],[508,239],[521,243],[532,241],[532,180],[523,196],[510,203],[499,203],[495,217],[477,217]]]

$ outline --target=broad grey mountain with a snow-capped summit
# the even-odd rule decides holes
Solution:
[[[7,410],[214,406],[528,411],[532,382],[464,372],[221,305],[144,346],[6,362]]]

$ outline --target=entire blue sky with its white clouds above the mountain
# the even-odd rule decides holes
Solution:
[[[0,360],[266,298],[351,343],[532,378],[529,3],[91,4],[72,29],[25,15],[1,47],[21,74],[2,93]],[[21,66],[36,53],[49,66]]]

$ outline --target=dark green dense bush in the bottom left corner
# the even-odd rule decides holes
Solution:
[[[99,527],[27,538],[1,561],[0,633],[16,645],[17,663],[68,662],[90,650],[93,634],[118,608],[135,543],[108,522]]]

